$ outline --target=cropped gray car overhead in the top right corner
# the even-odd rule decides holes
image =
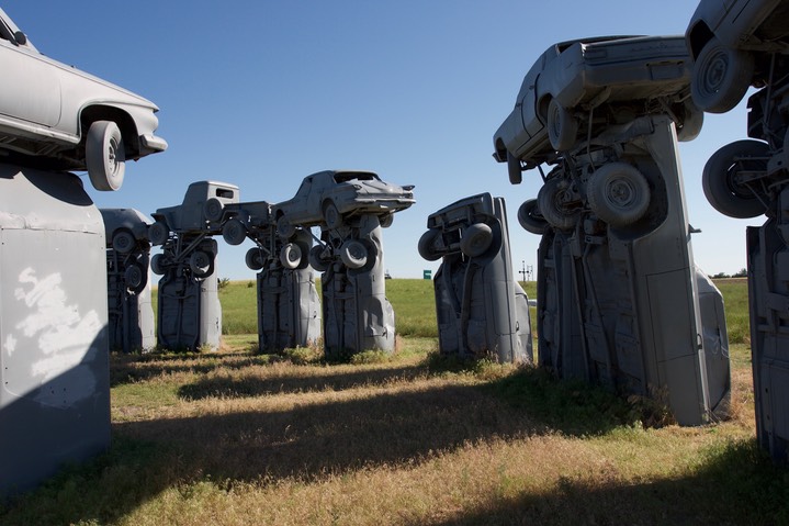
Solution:
[[[787,20],[787,0],[699,2],[686,31],[696,105],[725,113],[737,105],[748,86],[768,83],[770,70],[780,68],[789,55]],[[774,61],[775,55],[785,57]]]

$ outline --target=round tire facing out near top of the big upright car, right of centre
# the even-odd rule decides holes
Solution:
[[[609,163],[589,177],[586,199],[598,219],[620,227],[644,216],[652,192],[649,181],[638,168],[627,163]]]

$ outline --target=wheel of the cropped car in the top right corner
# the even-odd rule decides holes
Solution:
[[[690,80],[694,102],[702,111],[725,113],[737,105],[753,76],[753,55],[726,47],[712,37],[694,64]]]

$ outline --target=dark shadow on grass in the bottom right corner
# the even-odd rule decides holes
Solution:
[[[562,479],[550,492],[492,499],[433,524],[789,524],[789,472],[747,440],[709,449],[689,477],[641,484]]]

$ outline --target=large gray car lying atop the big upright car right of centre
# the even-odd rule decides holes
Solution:
[[[703,113],[689,98],[683,36],[605,36],[549,47],[523,78],[515,109],[496,131],[494,158],[510,182],[572,149],[581,138],[644,113],[673,116],[680,141],[695,138]]]

